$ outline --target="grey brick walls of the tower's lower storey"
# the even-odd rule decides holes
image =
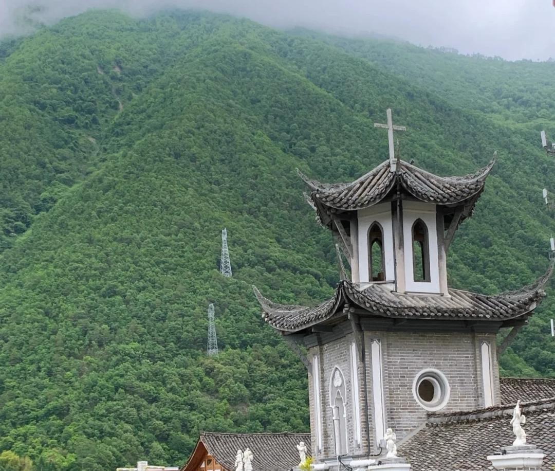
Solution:
[[[412,394],[412,383],[416,374],[425,368],[440,370],[445,374],[451,388],[450,399],[442,412],[471,410],[483,407],[482,365],[480,347],[482,340],[490,342],[492,348],[492,372],[494,402],[500,402],[499,372],[496,355],[495,334],[451,334],[451,333],[403,333],[365,332],[366,386],[370,411],[370,443],[375,443],[375,426],[372,421],[374,410],[372,395],[372,359],[370,340],[379,338],[382,345],[382,377],[386,427],[391,427],[402,439],[426,420],[427,411],[418,404]],[[309,358],[319,355],[320,407],[322,425],[322,450],[318,453],[314,386],[309,374],[310,425],[312,432],[312,455],[317,459],[335,454],[334,425],[330,407],[330,376],[338,367],[344,378],[347,393],[347,444],[350,455],[367,453],[368,432],[366,427],[365,380],[362,362],[357,360],[359,374],[359,403],[361,408],[362,443],[356,444],[354,437],[354,410],[352,401],[351,354],[354,341],[352,334],[309,350]],[[370,450],[373,452],[374,450]]]

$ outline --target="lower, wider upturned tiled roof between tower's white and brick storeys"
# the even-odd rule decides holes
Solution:
[[[274,303],[253,288],[264,319],[283,333],[300,332],[316,324],[332,322],[343,315],[345,306],[374,318],[480,320],[503,324],[531,315],[545,296],[544,286],[552,272],[553,263],[535,283],[495,296],[460,289],[449,289],[448,296],[402,294],[382,283],[360,290],[355,284],[342,280],[334,296],[315,307]]]

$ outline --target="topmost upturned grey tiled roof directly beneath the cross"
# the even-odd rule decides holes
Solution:
[[[331,209],[335,210],[332,212],[356,211],[374,206],[384,200],[397,184],[423,202],[445,206],[465,203],[468,206],[467,217],[480,197],[494,163],[495,159],[478,172],[462,177],[438,177],[401,160],[397,162],[394,172],[390,169],[390,162],[385,161],[351,183],[320,183],[301,172],[299,175],[310,187],[311,204],[316,207],[324,224],[329,221]]]

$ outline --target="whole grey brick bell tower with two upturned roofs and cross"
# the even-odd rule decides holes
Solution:
[[[395,156],[393,131],[404,128],[387,116],[376,125],[388,129],[385,162],[349,183],[300,174],[351,278],[311,307],[278,304],[254,288],[264,319],[308,370],[317,469],[338,455],[364,462],[388,428],[402,442],[428,412],[498,404],[496,333],[527,323],[553,269],[495,296],[448,287],[448,248],[495,161],[466,176],[436,176]]]

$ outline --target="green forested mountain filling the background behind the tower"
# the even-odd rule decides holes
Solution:
[[[555,229],[538,134],[555,134],[554,67],[194,12],[89,12],[0,43],[0,453],[95,471],[181,464],[201,429],[308,429],[306,371],[250,286],[284,303],[332,292],[334,240],[295,168],[331,182],[376,166],[387,107],[422,168],[464,174],[498,153],[450,283],[536,279]],[[504,374],[555,376],[554,306]]]

